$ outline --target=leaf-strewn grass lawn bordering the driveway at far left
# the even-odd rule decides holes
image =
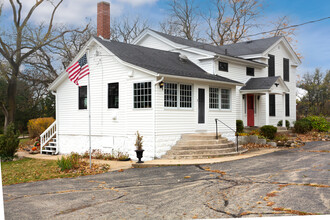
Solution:
[[[3,185],[86,175],[79,172],[61,172],[54,160],[36,160],[30,158],[2,162],[1,172]]]

